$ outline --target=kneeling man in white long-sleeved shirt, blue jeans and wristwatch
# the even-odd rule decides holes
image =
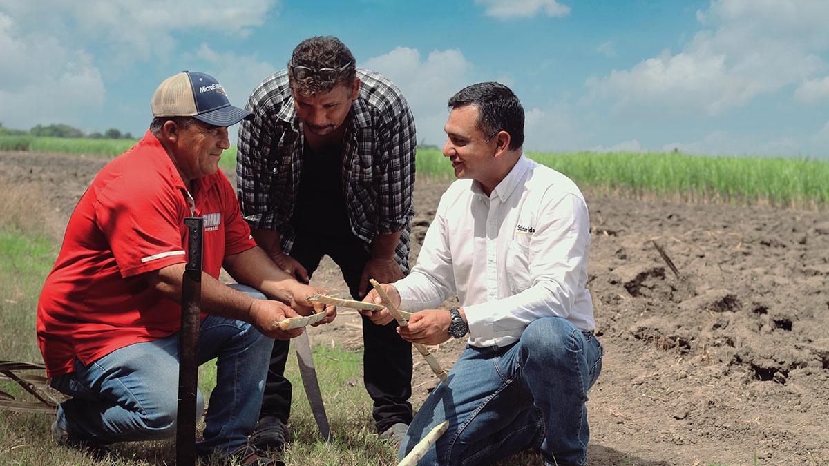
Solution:
[[[470,85],[448,102],[444,156],[458,181],[441,197],[418,264],[384,284],[414,313],[398,333],[468,345],[415,415],[400,458],[449,421],[419,464],[487,464],[541,449],[547,464],[586,464],[584,402],[601,371],[587,283],[584,197],[524,155],[524,109],[507,86]],[[461,307],[437,309],[454,291]],[[376,291],[366,301],[380,302]],[[387,310],[371,314],[391,320]]]

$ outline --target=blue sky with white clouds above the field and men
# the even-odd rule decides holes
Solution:
[[[403,90],[420,142],[444,143],[455,91],[497,80],[526,150],[829,159],[827,24],[826,0],[0,0],[0,122],[139,136],[167,76],[207,72],[244,106],[334,35]]]

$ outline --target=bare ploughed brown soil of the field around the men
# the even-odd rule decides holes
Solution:
[[[104,162],[0,153],[0,182],[40,192],[60,236]],[[445,187],[417,185],[413,264]],[[829,215],[597,197],[588,206],[605,349],[589,393],[590,464],[829,463]],[[312,283],[348,297],[330,261]],[[310,334],[356,347],[359,325],[342,312]],[[462,348],[432,349],[449,367]],[[436,379],[414,361],[419,405]]]

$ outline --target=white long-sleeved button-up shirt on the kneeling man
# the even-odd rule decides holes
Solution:
[[[595,328],[586,288],[589,216],[570,178],[521,158],[487,197],[473,180],[440,198],[400,308],[438,308],[455,289],[475,347],[518,341],[537,318]]]

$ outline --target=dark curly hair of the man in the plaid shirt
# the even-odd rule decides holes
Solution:
[[[298,81],[293,79],[291,66],[308,66],[308,68],[335,68],[342,70],[333,83],[318,80],[316,75]],[[288,83],[291,90],[299,95],[327,94],[338,84],[351,86],[356,77],[357,66],[351,51],[335,36],[316,36],[306,39],[293,49],[291,61],[288,61]]]

